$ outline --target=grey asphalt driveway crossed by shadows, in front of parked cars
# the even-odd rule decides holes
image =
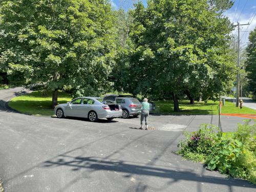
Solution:
[[[6,101],[22,91],[0,91],[0,178],[6,192],[255,191],[247,181],[226,179],[172,152],[182,130],[193,131],[218,116],[150,116],[139,119],[57,119],[19,114]],[[223,117],[223,131],[242,118]]]

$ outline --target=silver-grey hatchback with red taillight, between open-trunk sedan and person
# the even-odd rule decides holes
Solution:
[[[123,110],[122,118],[129,118],[130,115],[137,117],[139,115],[138,110],[141,109],[141,103],[138,99],[132,97],[118,97],[118,95],[106,95],[103,98],[104,101],[115,101],[116,104],[121,105]]]

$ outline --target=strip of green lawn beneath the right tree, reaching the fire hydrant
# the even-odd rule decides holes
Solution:
[[[205,102],[195,102],[194,105],[190,105],[188,100],[179,101],[180,112],[173,112],[173,101],[155,101],[156,111],[155,113],[168,113],[168,114],[184,114],[184,115],[217,115],[219,113],[219,101],[208,100]],[[236,103],[235,103],[236,105]],[[225,106],[222,106],[221,113],[232,114],[256,114],[256,110],[246,108],[242,109],[233,106],[230,101],[225,102]]]

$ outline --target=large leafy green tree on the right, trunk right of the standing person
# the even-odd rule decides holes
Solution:
[[[210,10],[206,1],[152,0],[135,5],[130,33],[131,55],[127,91],[172,95],[174,110],[184,90],[194,95],[219,95],[232,86],[228,18]]]

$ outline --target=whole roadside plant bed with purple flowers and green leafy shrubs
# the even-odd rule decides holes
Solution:
[[[177,154],[256,184],[256,123],[247,120],[237,131],[225,133],[215,125],[202,124],[198,131],[183,134],[186,138],[179,141]]]

